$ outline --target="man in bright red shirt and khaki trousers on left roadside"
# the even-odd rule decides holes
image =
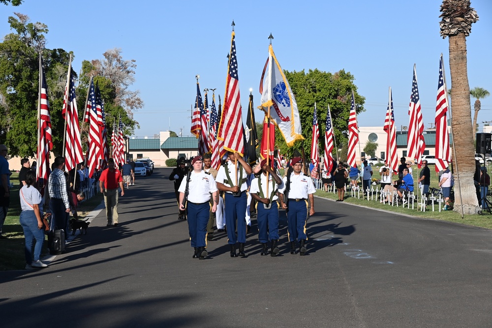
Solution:
[[[107,227],[118,226],[118,186],[124,195],[123,178],[118,169],[115,168],[115,160],[108,160],[108,168],[102,171],[99,177],[99,189],[104,194],[104,206],[106,207]]]

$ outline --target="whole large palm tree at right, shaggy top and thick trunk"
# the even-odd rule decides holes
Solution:
[[[454,210],[475,214],[480,209],[473,183],[475,173],[473,129],[470,112],[470,86],[466,68],[466,36],[478,21],[477,12],[469,0],[443,0],[439,23],[441,36],[449,38],[449,67],[453,89],[453,143],[459,183],[455,183]],[[456,172],[455,172],[456,174]]]

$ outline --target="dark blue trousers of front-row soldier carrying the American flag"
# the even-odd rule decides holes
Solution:
[[[246,191],[243,191],[239,197],[226,192],[224,201],[227,242],[230,245],[238,241],[246,242]],[[236,236],[236,229],[238,236]]]

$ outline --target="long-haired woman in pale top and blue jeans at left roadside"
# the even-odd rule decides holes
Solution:
[[[26,239],[24,250],[26,269],[44,268],[47,265],[39,260],[44,241],[43,221],[41,220],[42,212],[39,208],[43,199],[36,187],[33,186],[36,182],[36,174],[34,172],[28,171],[24,182],[26,184],[19,191],[19,198],[21,200],[19,221],[24,231],[24,238]],[[34,240],[33,252],[32,244]]]

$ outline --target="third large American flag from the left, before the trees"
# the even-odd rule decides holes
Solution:
[[[97,123],[97,108],[95,104],[95,89],[94,81],[91,80],[89,85],[89,98],[87,101],[87,108],[89,110],[89,156],[88,167],[89,177],[92,178],[92,174],[98,168],[99,162],[102,159],[101,155],[101,130]]]

